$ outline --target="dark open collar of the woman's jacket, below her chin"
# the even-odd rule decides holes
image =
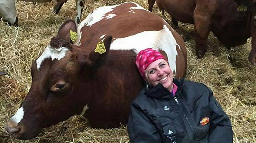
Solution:
[[[173,79],[173,83],[176,84],[178,87],[175,96],[181,92],[183,88],[183,82],[184,78],[182,78],[181,80]],[[149,89],[145,91],[145,94],[154,98],[171,98],[171,92],[164,88],[163,85],[160,83],[155,87],[149,87]]]

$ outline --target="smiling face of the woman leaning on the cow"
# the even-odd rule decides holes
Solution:
[[[146,69],[146,78],[151,86],[161,83],[164,88],[172,90],[173,72],[164,59],[152,62]]]

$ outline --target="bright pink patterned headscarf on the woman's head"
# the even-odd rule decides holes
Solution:
[[[154,61],[158,59],[165,59],[165,57],[158,51],[152,49],[152,48],[147,48],[144,50],[141,50],[138,55],[136,56],[136,66],[143,78],[145,78],[145,70],[147,67]]]

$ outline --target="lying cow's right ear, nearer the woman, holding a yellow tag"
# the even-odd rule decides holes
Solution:
[[[92,51],[90,54],[89,54],[89,57],[88,57],[88,60],[91,61],[92,64],[94,63],[100,63],[102,61],[105,61],[105,57],[107,56],[108,54],[108,51],[109,51],[109,48],[110,48],[110,44],[111,44],[111,41],[112,41],[112,36],[109,35],[106,39],[104,39],[103,43],[104,43],[104,46],[105,46],[105,52],[104,53],[101,53],[102,51],[99,51],[99,52],[95,52],[97,50],[94,50]],[[96,45],[95,45],[96,47]],[[98,49],[100,50],[100,49]],[[103,50],[104,51],[104,50]]]

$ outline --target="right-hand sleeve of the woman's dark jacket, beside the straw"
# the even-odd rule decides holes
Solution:
[[[210,91],[211,123],[209,143],[232,143],[233,131],[231,121]]]

